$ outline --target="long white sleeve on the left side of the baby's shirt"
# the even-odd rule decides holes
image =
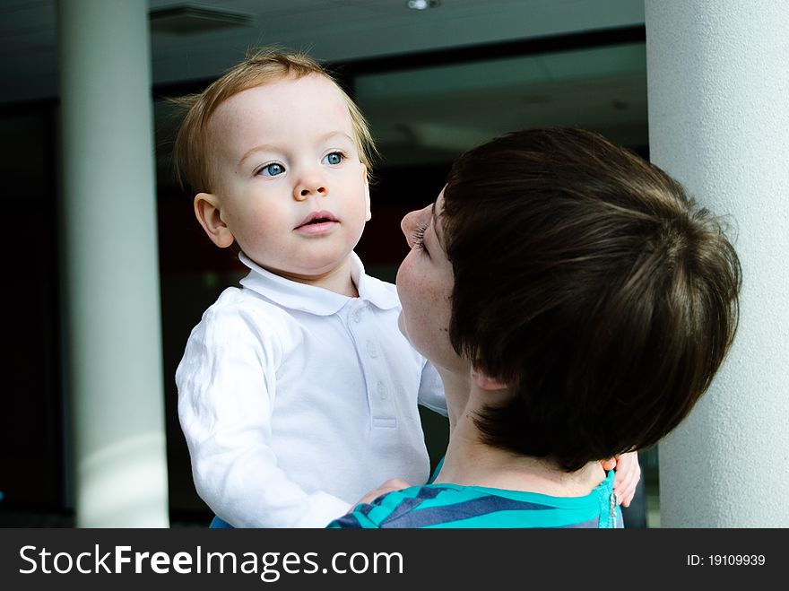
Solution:
[[[238,306],[208,309],[176,372],[178,418],[195,488],[236,527],[324,527],[351,503],[304,491],[271,448],[282,343]]]

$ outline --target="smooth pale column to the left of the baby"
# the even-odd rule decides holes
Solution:
[[[146,0],[60,0],[76,525],[167,527]]]

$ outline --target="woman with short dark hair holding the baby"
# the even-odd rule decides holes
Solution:
[[[721,224],[599,135],[535,129],[464,154],[402,225],[400,328],[444,381],[447,454],[331,526],[621,526],[601,460],[676,427],[733,340]]]

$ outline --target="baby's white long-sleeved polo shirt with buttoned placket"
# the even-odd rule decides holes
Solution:
[[[222,291],[176,371],[200,497],[237,527],[323,527],[388,478],[427,481],[417,403],[446,414],[436,370],[397,327],[395,286],[359,298],[271,274]]]

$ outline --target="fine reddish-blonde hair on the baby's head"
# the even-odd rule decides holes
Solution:
[[[222,102],[238,92],[256,86],[289,77],[299,79],[310,74],[325,77],[342,93],[342,99],[351,114],[351,125],[355,135],[353,140],[359,150],[360,161],[369,171],[372,158],[376,154],[375,143],[361,111],[337,81],[322,65],[305,53],[282,51],[277,48],[259,48],[251,52],[244,61],[230,68],[221,78],[212,82],[204,91],[172,100],[186,110],[173,150],[176,177],[181,186],[191,187],[195,194],[212,191],[212,170],[208,156],[206,126],[213,112]]]

